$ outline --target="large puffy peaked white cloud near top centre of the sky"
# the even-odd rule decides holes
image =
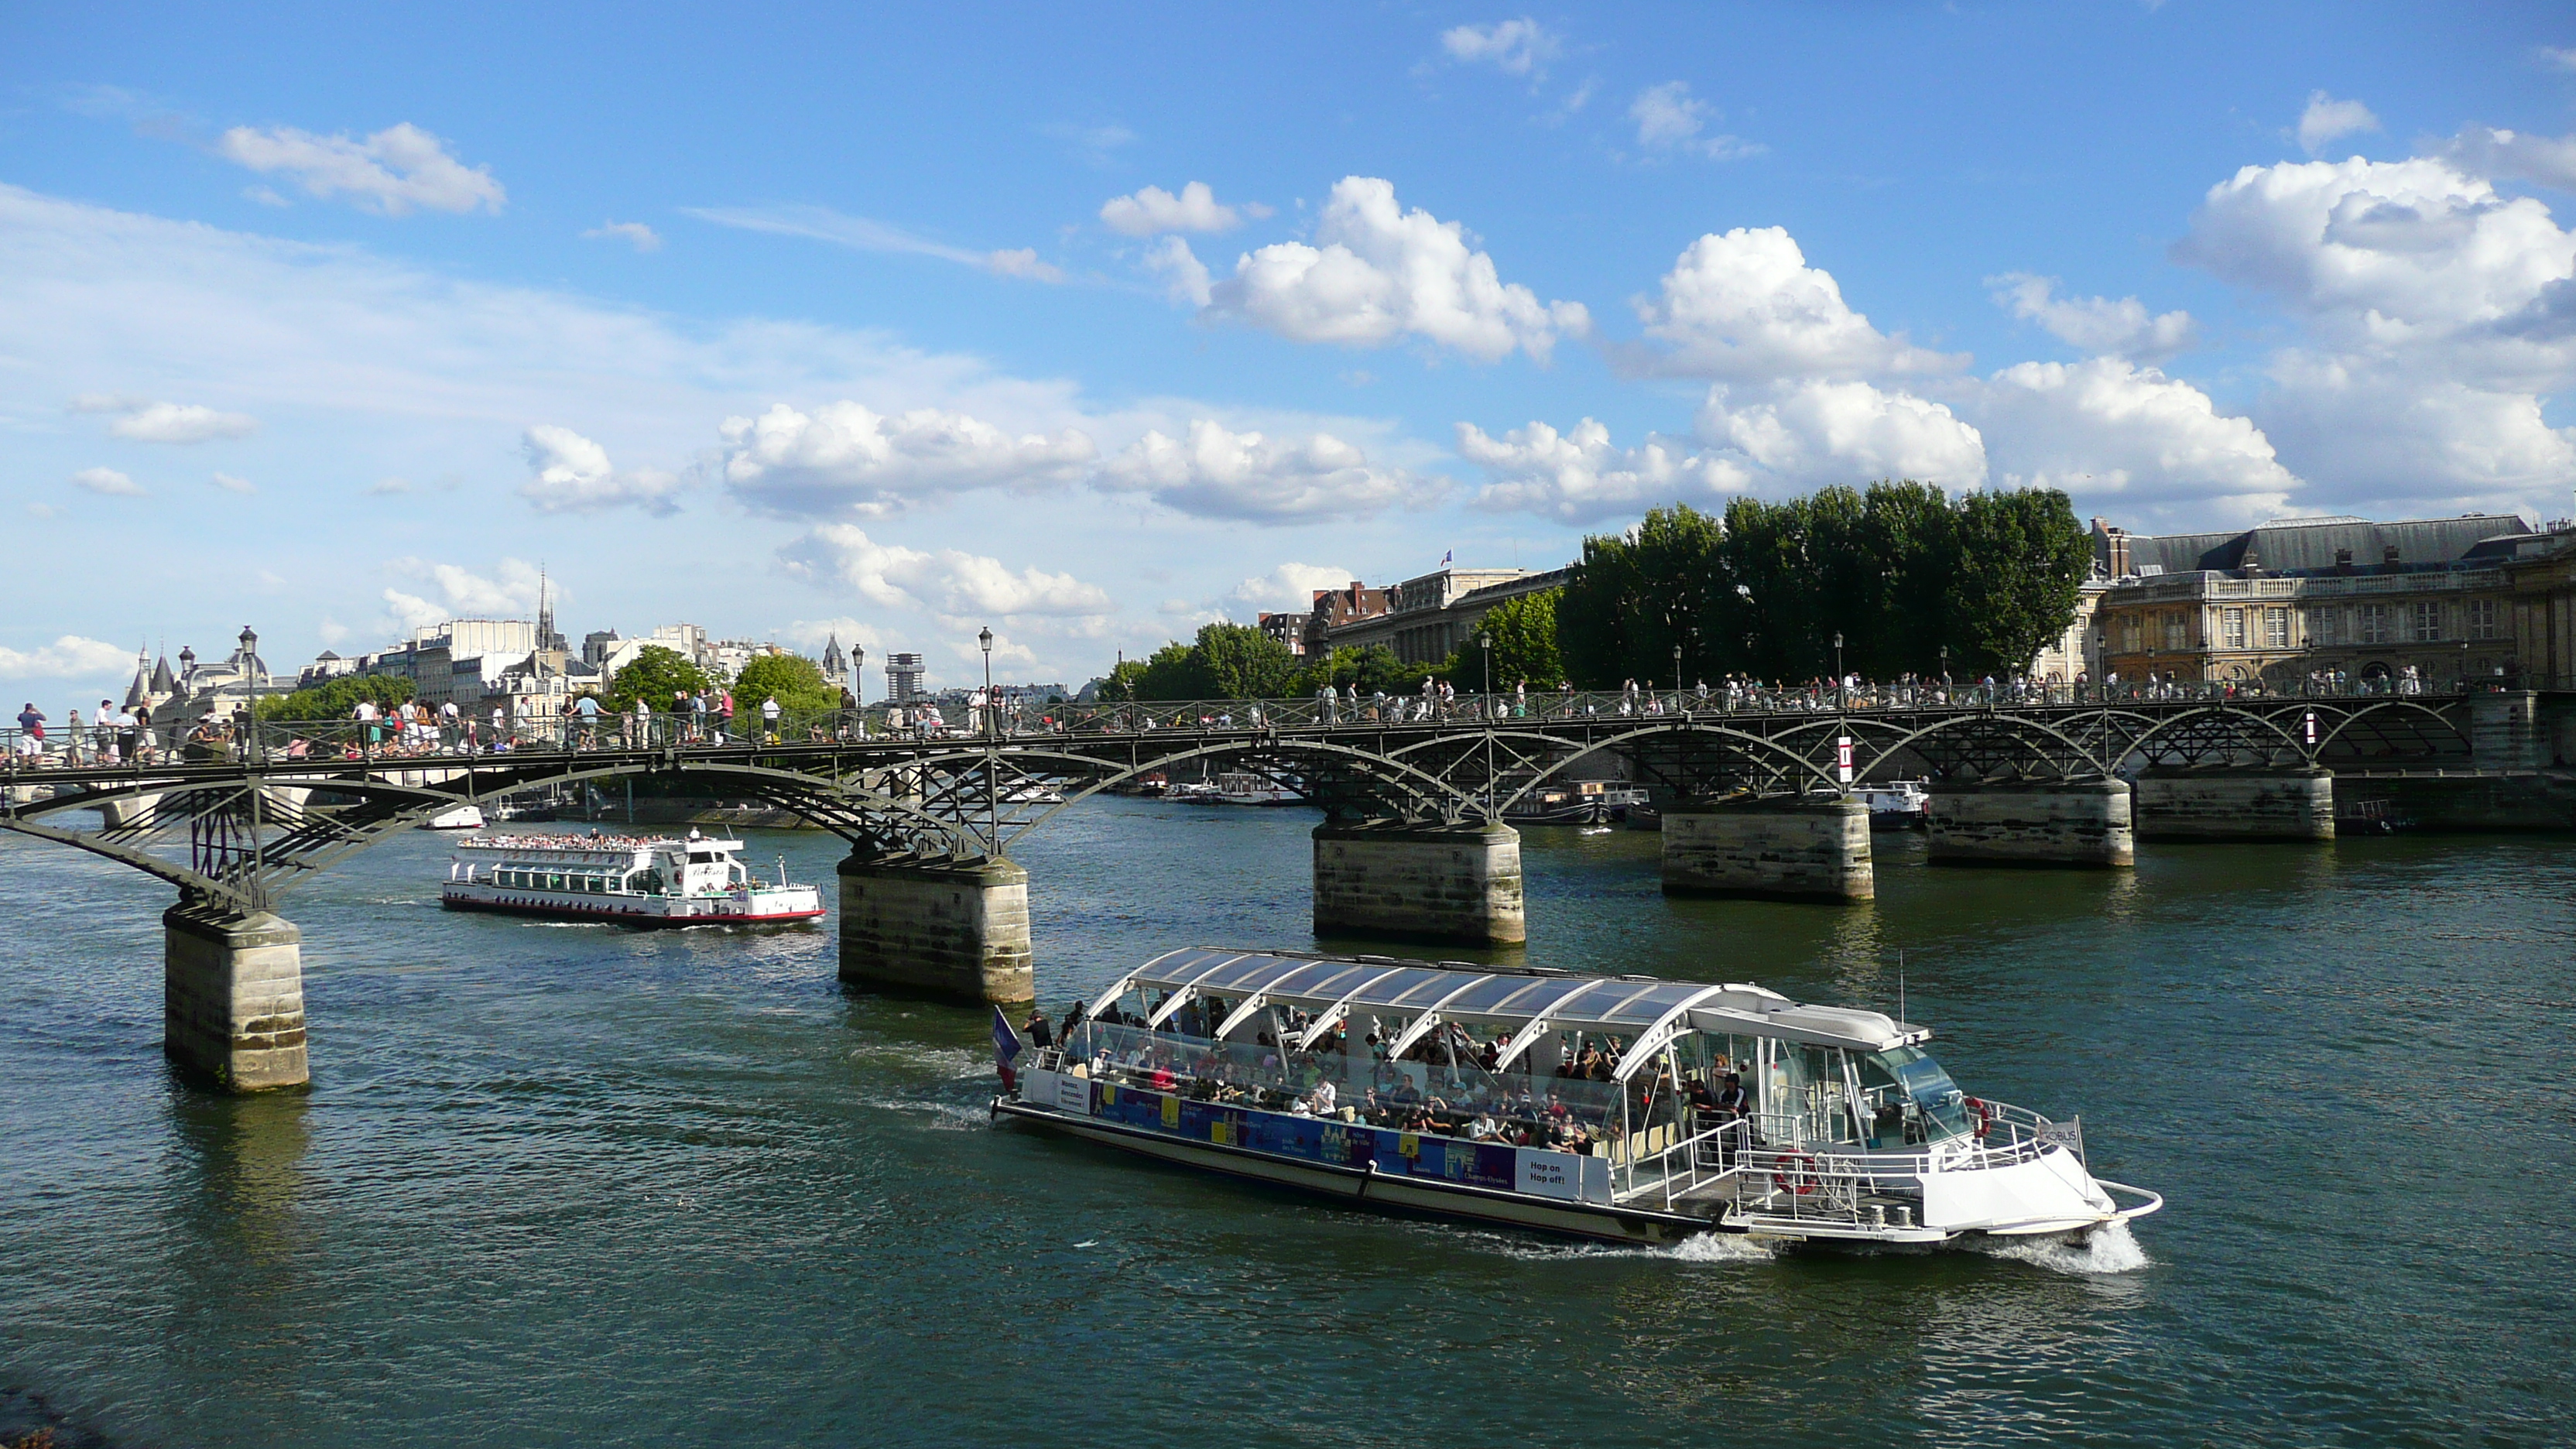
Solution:
[[[1558,335],[1592,330],[1582,302],[1504,284],[1455,222],[1396,206],[1388,180],[1337,180],[1314,240],[1247,253],[1208,312],[1298,343],[1368,348],[1414,335],[1479,361],[1515,348],[1546,361]]]

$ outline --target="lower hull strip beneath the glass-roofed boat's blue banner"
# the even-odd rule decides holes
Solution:
[[[1440,1217],[1455,1222],[1479,1222],[1489,1227],[1520,1227],[1528,1232],[1546,1232],[1553,1238],[1582,1238],[1592,1243],[1625,1243],[1649,1248],[1674,1245],[1700,1232],[1736,1232],[1705,1217],[1685,1217],[1685,1214],[1649,1212],[1633,1207],[1595,1207],[1584,1201],[1556,1201],[1530,1194],[1476,1189],[1466,1183],[1443,1183],[1427,1178],[1406,1178],[1396,1173],[1378,1173],[1373,1168],[1309,1163],[1301,1158],[1280,1158],[1275,1152],[1260,1152],[1255,1147],[1226,1147],[1218,1142],[1172,1137],[1164,1132],[1128,1127],[1123,1122],[1072,1116],[1048,1106],[1012,1101],[1012,1098],[994,1098],[992,1111],[994,1116],[1007,1116],[1025,1127],[1061,1132],[1079,1142],[1095,1142],[1100,1147],[1113,1147],[1121,1152],[1133,1152],[1139,1158],[1154,1158],[1182,1168],[1221,1173],[1229,1178],[1296,1189],[1370,1212]]]

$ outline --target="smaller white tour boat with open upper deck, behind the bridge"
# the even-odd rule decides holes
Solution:
[[[471,835],[438,905],[618,926],[773,926],[822,915],[822,890],[752,879],[742,841],[639,835]]]

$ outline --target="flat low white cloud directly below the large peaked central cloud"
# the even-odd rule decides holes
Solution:
[[[1262,523],[1368,518],[1437,492],[1437,482],[1370,467],[1368,454],[1332,433],[1231,433],[1208,418],[1190,423],[1188,441],[1149,431],[1108,459],[1092,482],[1110,492],[1149,492],[1200,518]]]

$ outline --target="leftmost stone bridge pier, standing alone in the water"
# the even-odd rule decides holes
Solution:
[[[162,1049],[224,1091],[304,1085],[304,933],[268,913],[165,910]]]

